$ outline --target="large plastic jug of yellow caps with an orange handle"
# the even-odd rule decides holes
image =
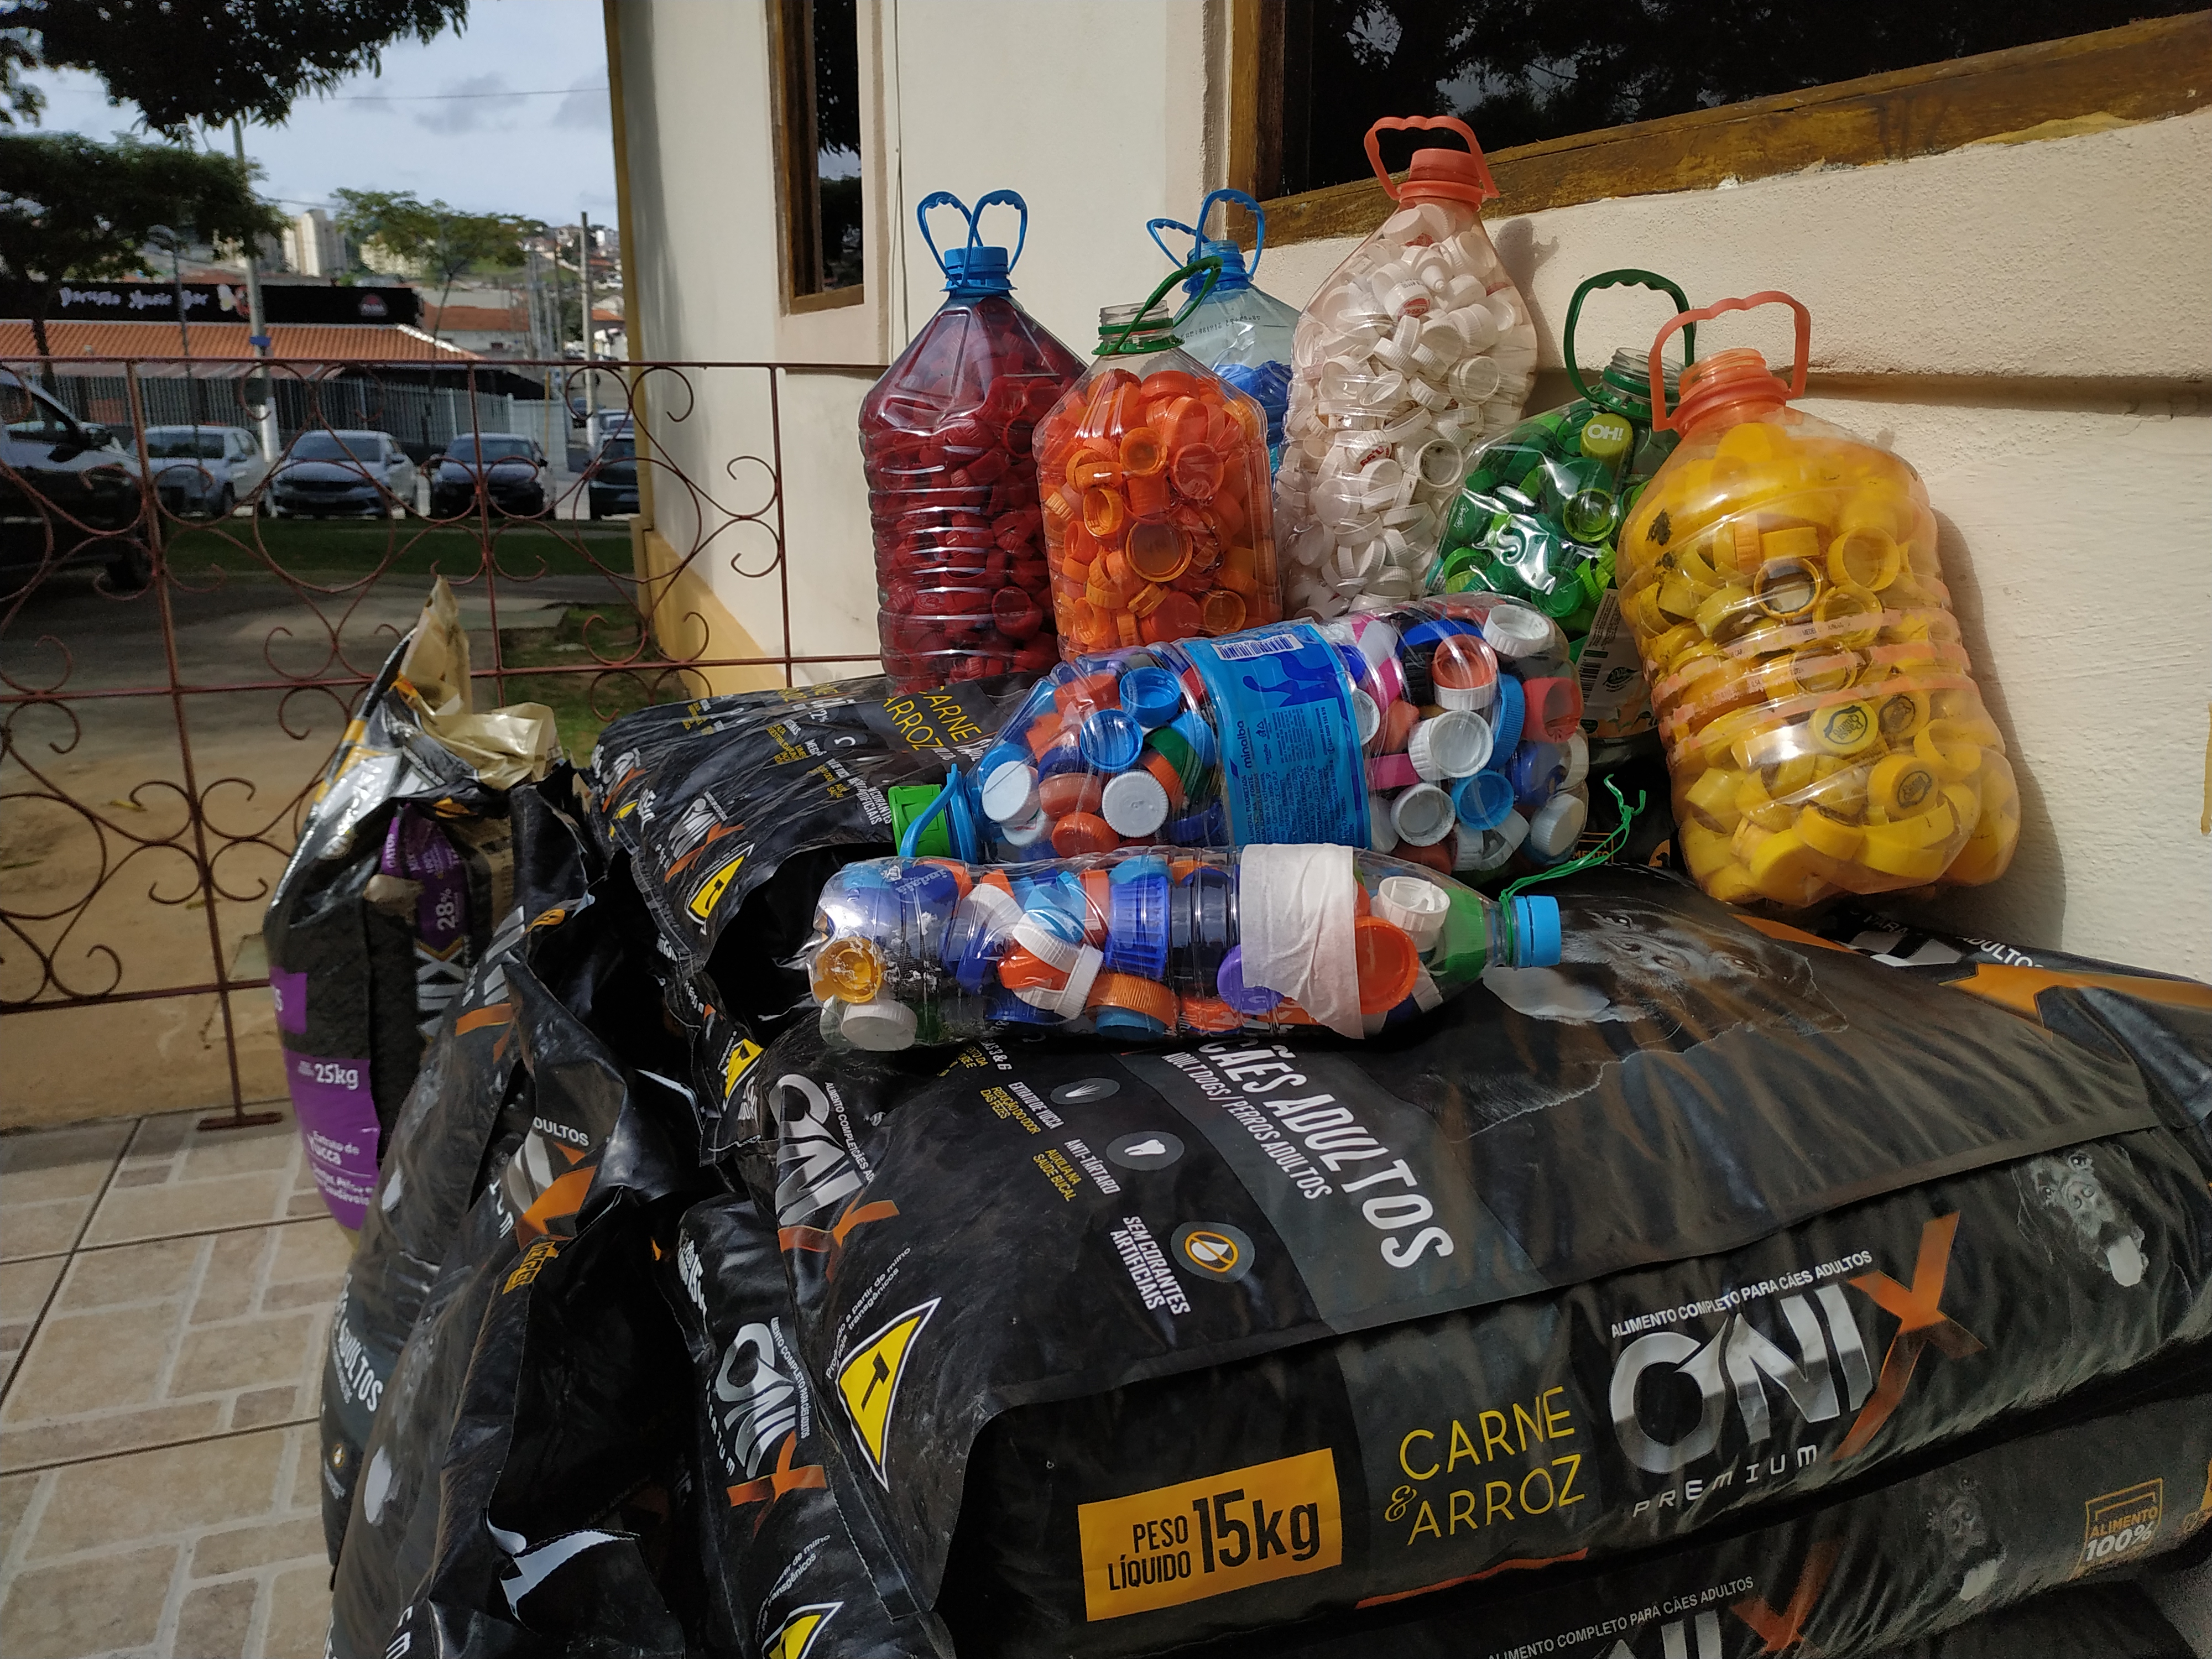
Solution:
[[[1666,338],[1767,303],[1796,312],[1790,385],[1759,352],[1719,352],[1683,369],[1668,414]],[[1652,343],[1652,425],[1681,445],[1621,529],[1619,582],[1677,852],[1732,905],[1995,880],[2020,792],[1960,646],[1927,489],[1790,407],[1809,343],[1809,312],[1776,292],[1683,312]]]

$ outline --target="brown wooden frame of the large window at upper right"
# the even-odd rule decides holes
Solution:
[[[1261,119],[1270,104],[1281,106],[1281,49],[1263,51],[1270,31],[1281,38],[1281,4],[1230,0],[1230,7],[1228,181],[1252,190],[1270,161],[1270,142],[1276,166],[1281,153],[1281,137]],[[1710,190],[1723,181],[1902,161],[1982,142],[2068,137],[2185,115],[2205,104],[2212,104],[2212,11],[2192,11],[1491,150],[1500,199],[1484,206],[1484,215]],[[1374,179],[1274,197],[1263,206],[1267,246],[1365,237],[1389,215],[1389,197]],[[1237,234],[1250,246],[1250,226]]]

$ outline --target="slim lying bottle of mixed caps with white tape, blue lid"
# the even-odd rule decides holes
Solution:
[[[876,858],[823,887],[803,953],[823,1033],[872,1051],[1024,1029],[1360,1037],[1486,967],[1557,960],[1553,898],[1500,905],[1433,869],[1312,845]]]

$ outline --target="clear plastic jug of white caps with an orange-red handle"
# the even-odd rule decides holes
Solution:
[[[1467,150],[1416,150],[1396,184],[1383,131],[1429,126]],[[1274,484],[1285,611],[1310,617],[1422,593],[1467,451],[1520,420],[1535,376],[1535,325],[1482,228],[1498,186],[1467,122],[1376,122],[1367,157],[1398,210],[1298,316]]]

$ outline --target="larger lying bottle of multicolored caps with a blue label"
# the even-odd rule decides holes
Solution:
[[[1579,838],[1579,719],[1548,617],[1495,593],[1418,599],[1062,664],[947,785],[945,816],[978,858],[1329,841],[1489,878]]]

